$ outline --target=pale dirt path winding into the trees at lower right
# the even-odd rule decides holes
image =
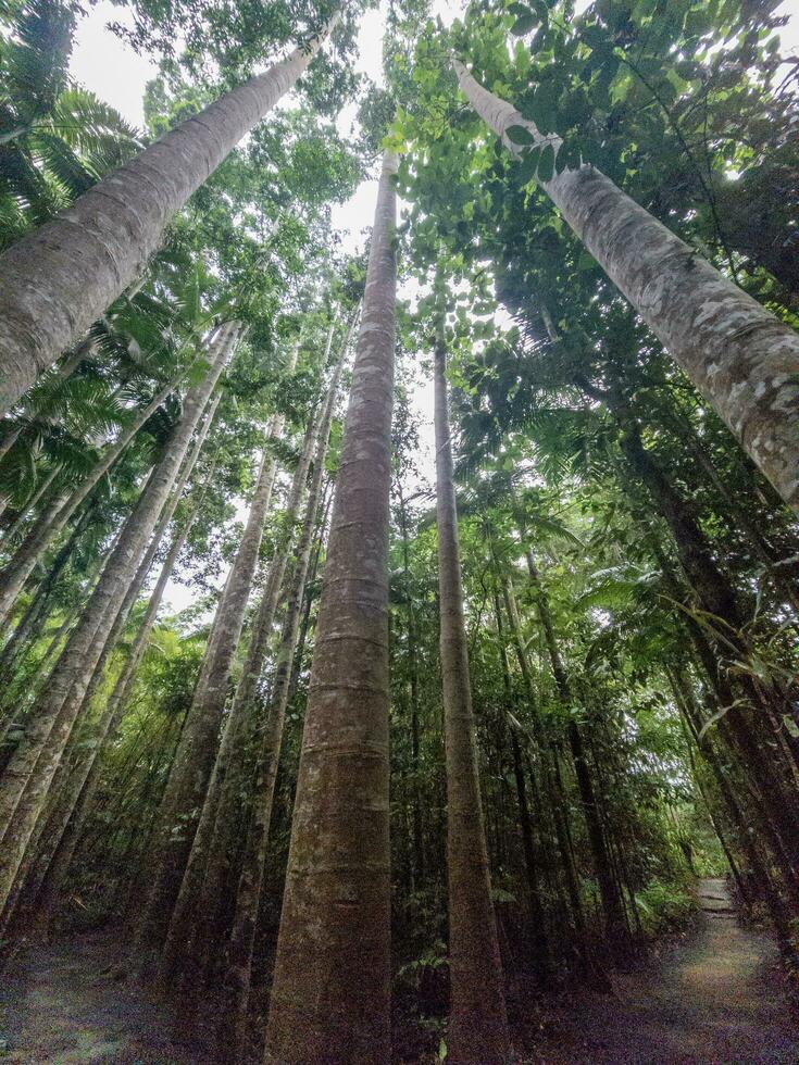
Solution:
[[[738,923],[723,880],[700,881],[699,897],[702,927],[689,943],[614,978],[615,997],[548,1012],[528,1061],[796,1065],[799,1028],[772,939]]]

